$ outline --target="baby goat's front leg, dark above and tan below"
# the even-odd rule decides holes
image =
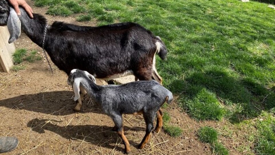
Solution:
[[[125,137],[124,131],[123,131],[122,115],[121,114],[114,114],[111,117],[112,117],[112,119],[113,119],[113,121],[115,123],[114,129],[117,130],[117,134],[122,139],[122,142],[123,142],[123,144],[125,146],[125,153],[126,154],[131,153],[130,144],[129,144],[127,138]]]

